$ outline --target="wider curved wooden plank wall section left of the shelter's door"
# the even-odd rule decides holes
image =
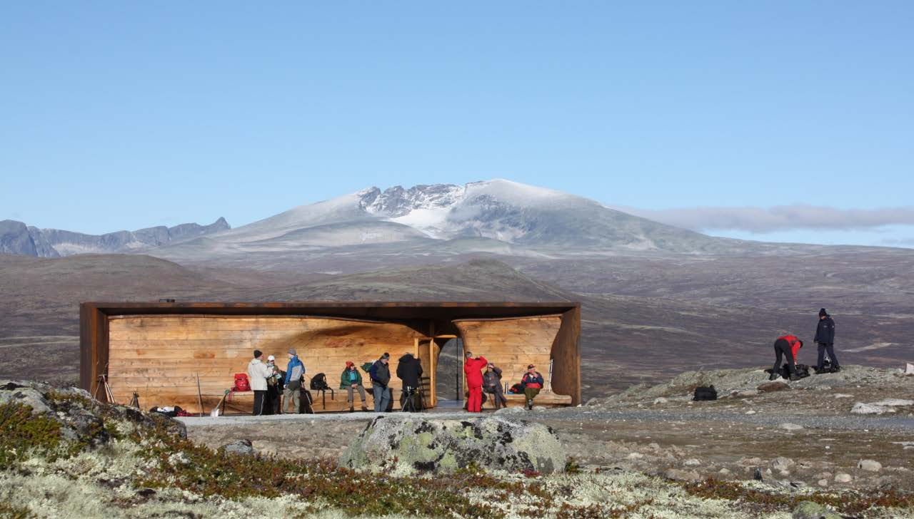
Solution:
[[[415,339],[425,335],[400,323],[327,317],[112,316],[109,327],[108,378],[115,400],[128,402],[136,391],[144,409],[178,405],[194,413],[200,411],[197,375],[204,411],[212,410],[234,374],[247,372],[254,349],[263,352],[264,360],[276,356],[284,369],[286,352],[296,348],[309,379],[326,374],[336,392],[336,409],[345,406],[345,391],[338,389],[345,361],[361,366],[387,351],[390,387],[399,407],[397,359],[415,352]],[[329,394],[326,400],[331,403]],[[250,397],[236,403],[250,409]],[[372,405],[370,396],[367,403]]]

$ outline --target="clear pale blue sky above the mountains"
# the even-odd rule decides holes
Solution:
[[[914,245],[914,3],[631,4],[4,3],[0,219],[237,226],[502,177],[655,214],[893,209],[700,220]]]

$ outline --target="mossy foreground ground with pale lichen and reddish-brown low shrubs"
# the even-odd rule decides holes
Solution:
[[[67,399],[64,399],[67,400]],[[80,406],[84,402],[75,402]],[[790,517],[802,501],[858,517],[914,517],[898,493],[821,493],[741,483],[671,483],[637,472],[552,476],[464,468],[396,477],[328,460],[212,450],[108,416],[102,445],[66,440],[57,421],[0,406],[2,517]]]

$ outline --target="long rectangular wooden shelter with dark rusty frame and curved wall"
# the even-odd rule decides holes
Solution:
[[[397,359],[410,352],[422,363],[427,405],[435,405],[441,347],[460,338],[465,350],[502,368],[509,384],[528,364],[537,365],[548,378],[537,404],[577,405],[579,335],[578,303],[82,303],[80,386],[119,403],[136,392],[146,409],[209,411],[234,374],[247,371],[254,349],[276,356],[285,368],[286,352],[296,348],[307,376],[323,372],[335,390],[335,398],[317,397],[314,410],[343,410],[345,390],[337,388],[345,361],[361,366],[388,352],[389,387],[399,407]],[[363,378],[369,388],[364,372]],[[508,398],[512,405],[523,403],[523,395]],[[235,394],[229,407],[250,410],[251,399],[250,393]]]

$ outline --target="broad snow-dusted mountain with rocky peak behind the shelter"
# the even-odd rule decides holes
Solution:
[[[394,186],[384,191],[370,187],[144,252],[175,261],[234,257],[239,262],[266,264],[281,256],[303,261],[331,251],[350,257],[363,253],[692,254],[732,246],[726,242],[621,213],[583,197],[496,179],[463,186]],[[353,247],[371,247],[371,252]]]

